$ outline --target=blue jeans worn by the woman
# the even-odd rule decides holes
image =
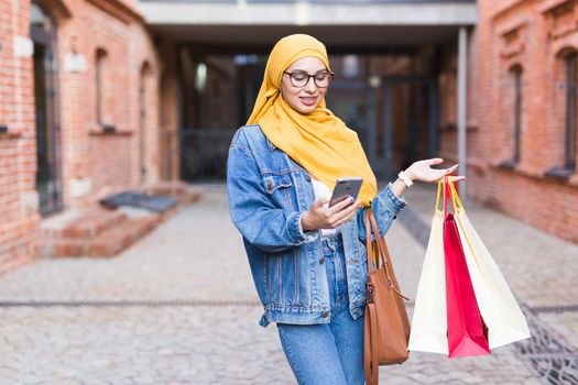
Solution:
[[[362,385],[363,317],[355,320],[349,314],[341,235],[334,235],[321,242],[329,284],[330,322],[277,322],[281,344],[299,384]]]

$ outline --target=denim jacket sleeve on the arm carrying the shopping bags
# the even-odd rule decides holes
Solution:
[[[371,209],[378,221],[378,228],[380,230],[380,235],[383,237],[391,227],[393,220],[397,217],[400,210],[402,210],[406,204],[403,198],[397,198],[392,189],[391,183],[381,190],[380,194],[371,202]],[[366,209],[358,210],[357,213],[357,223],[358,223],[358,235],[361,242],[366,242]]]

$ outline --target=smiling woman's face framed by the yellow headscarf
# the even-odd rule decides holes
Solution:
[[[323,77],[324,73],[328,73],[325,64],[317,57],[304,57],[293,62],[291,66],[283,73],[281,81],[281,91],[283,99],[293,107],[294,110],[301,113],[310,113],[315,111],[319,102],[327,92],[327,87],[319,88],[314,81],[314,78],[307,78],[307,84],[303,87],[295,87],[291,81],[291,76],[287,73],[296,73],[295,78],[299,78],[303,82],[303,78],[308,75],[316,75]],[[318,81],[320,82],[320,81]]]

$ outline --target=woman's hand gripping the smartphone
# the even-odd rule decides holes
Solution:
[[[303,231],[337,229],[353,218],[361,204],[359,200],[348,198],[331,207],[325,207],[328,201],[328,198],[319,199],[312,205],[309,211],[305,212],[301,219]]]

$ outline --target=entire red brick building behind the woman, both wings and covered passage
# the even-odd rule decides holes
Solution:
[[[0,2],[0,272],[39,255],[42,218],[222,175],[264,55],[295,32],[327,44],[328,103],[380,177],[458,161],[466,132],[470,196],[578,242],[578,1],[240,3]]]

